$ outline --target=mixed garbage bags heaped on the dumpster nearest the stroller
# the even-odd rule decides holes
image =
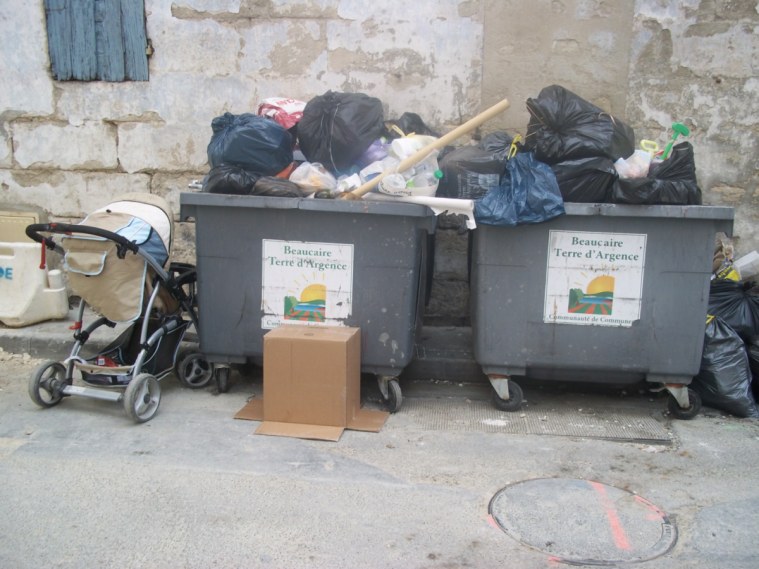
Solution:
[[[211,126],[204,191],[284,197],[358,188],[439,136],[415,113],[386,121],[376,97],[333,91],[307,103],[266,99],[257,114],[226,113]],[[436,156],[399,173],[400,186],[387,184],[386,193],[411,195],[425,182],[434,195],[442,176]]]

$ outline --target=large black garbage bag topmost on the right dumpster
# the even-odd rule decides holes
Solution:
[[[527,110],[527,149],[547,164],[597,156],[614,162],[635,150],[631,127],[560,85],[527,99]]]

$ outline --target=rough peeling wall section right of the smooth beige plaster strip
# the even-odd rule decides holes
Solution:
[[[686,124],[704,203],[735,208],[738,254],[759,249],[759,3],[638,0],[633,32],[636,135]]]

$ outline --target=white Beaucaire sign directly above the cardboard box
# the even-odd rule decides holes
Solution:
[[[353,245],[263,240],[261,328],[345,325],[353,302]]]

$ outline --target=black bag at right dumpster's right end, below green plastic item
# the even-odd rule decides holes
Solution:
[[[612,192],[613,203],[646,205],[701,205],[693,146],[681,142],[666,160],[653,162],[645,178],[620,178]]]

